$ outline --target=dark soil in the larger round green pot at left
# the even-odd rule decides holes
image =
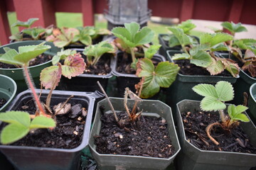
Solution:
[[[44,55],[44,54],[38,55],[38,57],[36,57],[35,59],[33,59],[29,62],[29,66],[35,66],[35,65],[38,65],[38,64],[43,64],[45,62],[50,61],[52,58],[53,58],[53,56],[50,56],[50,55]],[[16,65],[13,65],[13,64],[5,64],[3,62],[0,62],[0,68],[2,68],[2,69],[16,69],[18,67]]]

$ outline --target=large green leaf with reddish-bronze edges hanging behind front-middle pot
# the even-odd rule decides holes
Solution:
[[[154,69],[154,64],[148,58],[137,63],[137,76],[144,77],[142,98],[154,96],[160,87],[167,88],[175,81],[179,67],[171,62],[159,62]]]

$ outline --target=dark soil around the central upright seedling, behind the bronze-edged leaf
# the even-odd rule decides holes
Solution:
[[[154,66],[159,63],[159,61],[151,59]],[[117,56],[117,72],[122,74],[136,74],[136,70],[131,67],[132,64],[132,56],[127,54],[126,52],[119,53]]]

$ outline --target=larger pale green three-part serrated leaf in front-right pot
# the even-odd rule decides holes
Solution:
[[[200,104],[203,111],[224,109],[223,101],[231,101],[234,98],[233,86],[228,81],[218,81],[215,87],[210,84],[198,84],[193,86],[193,91],[204,96]]]

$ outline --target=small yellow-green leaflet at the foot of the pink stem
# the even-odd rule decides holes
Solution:
[[[46,118],[45,116],[36,116],[31,121],[30,129],[35,129],[35,128],[54,128],[55,121],[52,118]]]

